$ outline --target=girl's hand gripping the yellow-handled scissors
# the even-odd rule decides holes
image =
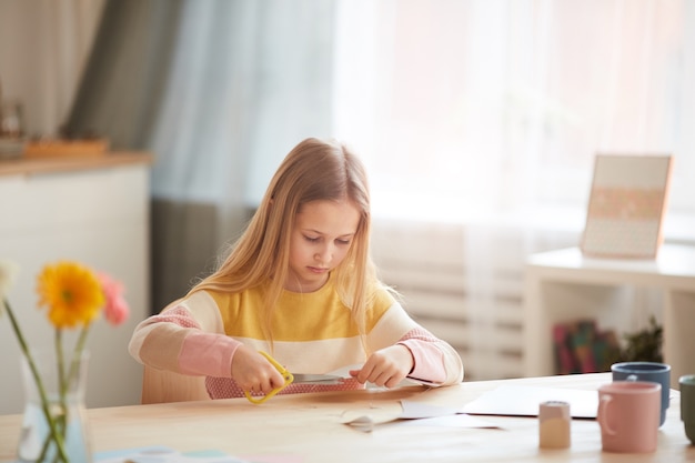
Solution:
[[[240,345],[234,352],[231,366],[232,380],[244,391],[269,394],[284,384],[284,379],[263,355]]]

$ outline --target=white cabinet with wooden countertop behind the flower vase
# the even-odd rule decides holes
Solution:
[[[90,333],[90,407],[140,402],[142,370],[127,345],[149,314],[150,157],[101,158],[0,163],[0,259],[20,266],[9,299],[32,348],[50,349],[53,340],[37,306],[37,275],[44,264],[79,261],[125,285],[129,321],[113,328],[100,320]],[[0,414],[22,411],[19,358],[10,322],[0,316]]]

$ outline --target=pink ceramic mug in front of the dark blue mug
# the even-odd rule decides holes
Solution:
[[[645,453],[656,450],[662,385],[616,381],[598,387],[601,442],[606,452]]]

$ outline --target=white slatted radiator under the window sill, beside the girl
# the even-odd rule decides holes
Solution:
[[[463,359],[467,380],[523,376],[523,278],[530,253],[573,233],[375,220],[372,255],[405,310]]]

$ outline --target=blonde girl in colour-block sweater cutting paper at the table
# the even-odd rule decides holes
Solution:
[[[377,280],[370,221],[360,160],[334,141],[302,141],[229,256],[135,328],[131,355],[150,371],[204,376],[212,399],[268,394],[283,384],[259,351],[293,373],[362,365],[343,384],[290,384],[281,393],[366,382],[393,387],[406,376],[461,382],[459,354],[415,323]]]

